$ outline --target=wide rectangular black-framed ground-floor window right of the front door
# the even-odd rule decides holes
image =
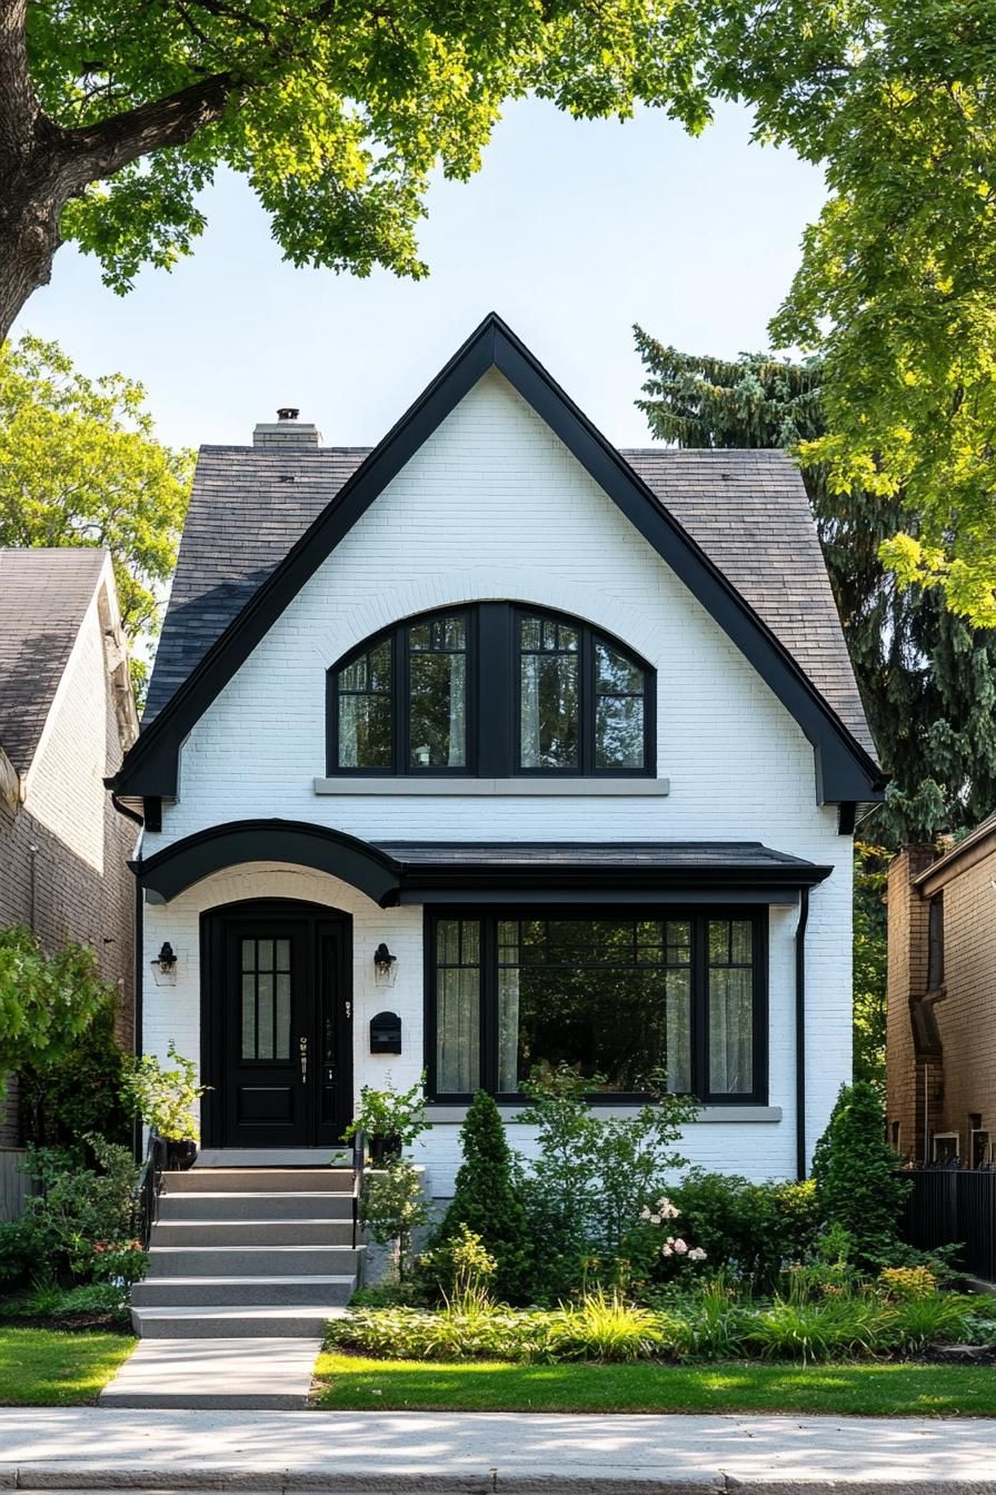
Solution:
[[[754,912],[430,919],[436,1097],[514,1097],[570,1064],[596,1099],[669,1090],[763,1100],[766,942]]]

